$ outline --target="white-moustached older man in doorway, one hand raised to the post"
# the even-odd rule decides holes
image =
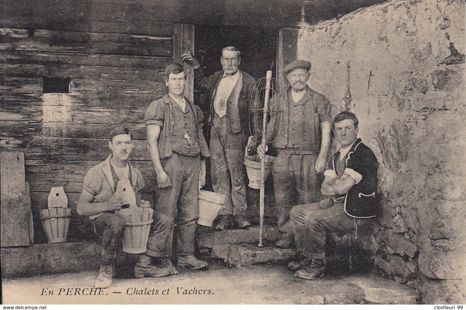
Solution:
[[[257,143],[248,144],[249,101],[254,78],[238,69],[241,53],[236,47],[222,49],[222,71],[204,76],[203,68],[188,51],[183,61],[194,66],[194,86],[210,94],[210,161],[212,187],[216,193],[226,195],[224,208],[216,229],[247,228],[246,168],[244,151],[255,150]]]

